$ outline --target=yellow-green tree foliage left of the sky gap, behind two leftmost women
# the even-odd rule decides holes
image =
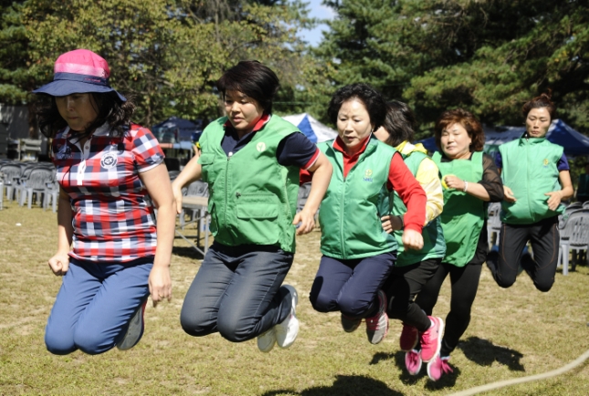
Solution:
[[[59,54],[83,47],[107,59],[111,85],[134,99],[136,121],[146,125],[171,115],[216,118],[216,80],[242,59],[273,68],[288,91],[305,57],[296,32],[314,23],[300,1],[26,0],[0,6],[2,54],[16,59],[0,58],[0,101],[34,100],[27,93],[53,78]]]

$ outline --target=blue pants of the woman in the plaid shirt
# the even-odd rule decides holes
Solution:
[[[45,328],[49,352],[67,355],[80,349],[95,355],[121,340],[131,317],[149,296],[153,263],[137,261],[141,264],[69,259]]]

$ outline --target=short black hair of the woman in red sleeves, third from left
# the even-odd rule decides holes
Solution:
[[[346,85],[333,93],[328,105],[327,116],[334,125],[337,125],[338,112],[343,102],[350,99],[359,99],[363,102],[366,111],[368,111],[370,122],[374,125],[374,130],[383,125],[386,102],[380,92],[363,82]]]

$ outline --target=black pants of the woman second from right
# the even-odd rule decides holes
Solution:
[[[427,281],[426,286],[415,298],[415,304],[425,310],[427,315],[431,315],[439,296],[440,287],[442,287],[446,276],[450,275],[452,297],[450,312],[446,317],[442,349],[440,349],[441,356],[449,356],[456,349],[458,340],[468,328],[470,309],[479,288],[481,267],[482,264],[473,264],[472,262],[461,267],[442,263],[437,267],[436,274]]]

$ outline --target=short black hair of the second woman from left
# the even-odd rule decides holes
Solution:
[[[272,99],[279,91],[280,82],[276,73],[258,60],[242,60],[229,68],[216,82],[216,88],[223,94],[237,90],[256,99],[268,114],[272,113]]]

